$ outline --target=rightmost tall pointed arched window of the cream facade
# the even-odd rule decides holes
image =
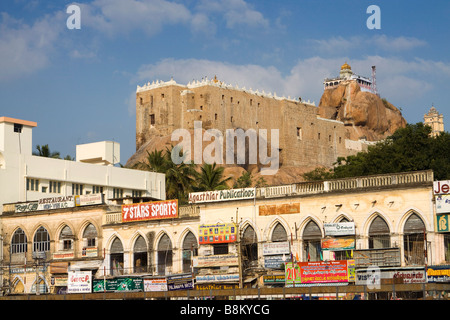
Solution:
[[[413,213],[406,220],[403,229],[403,248],[407,265],[425,264],[424,233],[425,224],[417,214]]]

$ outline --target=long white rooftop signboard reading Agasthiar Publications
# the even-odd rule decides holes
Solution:
[[[255,196],[256,196],[256,188],[191,192],[189,193],[189,203],[248,200],[254,199]]]

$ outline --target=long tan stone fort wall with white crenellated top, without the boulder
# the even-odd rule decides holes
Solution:
[[[332,166],[337,157],[366,146],[348,140],[343,122],[323,119],[314,103],[233,87],[217,80],[187,85],[174,80],[148,83],[136,90],[136,150],[152,137],[175,129],[279,130],[280,163],[286,166]],[[178,142],[174,143],[177,144]]]

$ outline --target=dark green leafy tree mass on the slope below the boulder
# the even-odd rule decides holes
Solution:
[[[450,135],[444,132],[434,138],[430,133],[421,122],[408,124],[367,152],[338,158],[332,170],[315,169],[303,177],[323,180],[432,169],[435,179],[449,179]]]

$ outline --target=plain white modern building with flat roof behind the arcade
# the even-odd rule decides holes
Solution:
[[[36,122],[0,117],[0,214],[5,203],[104,194],[104,201],[125,197],[165,199],[161,173],[115,167],[120,145],[103,141],[76,148],[76,161],[32,154]]]

